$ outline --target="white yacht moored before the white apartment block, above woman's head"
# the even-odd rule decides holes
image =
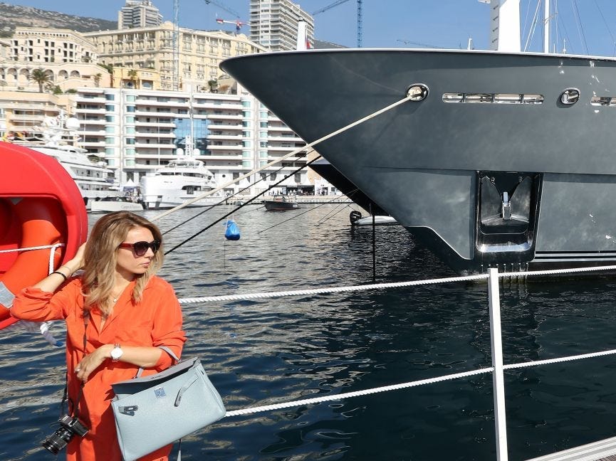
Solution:
[[[169,161],[169,164],[157,169],[155,174],[147,174],[140,180],[141,200],[146,210],[174,208],[216,187],[218,184],[214,174],[205,167],[203,161],[192,157]],[[216,205],[223,198],[219,191],[190,206]]]

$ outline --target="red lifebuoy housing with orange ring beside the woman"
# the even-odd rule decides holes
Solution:
[[[9,309],[22,288],[75,255],[88,215],[75,181],[53,157],[0,142],[0,329],[17,321]],[[27,248],[48,247],[27,250]],[[23,249],[15,251],[17,249]],[[52,258],[53,253],[53,258]]]

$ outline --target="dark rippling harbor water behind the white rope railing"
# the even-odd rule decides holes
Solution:
[[[165,235],[167,249],[229,211]],[[218,224],[167,255],[178,297],[372,283],[370,228],[350,208],[243,208],[241,240]],[[158,221],[162,230],[194,216]],[[144,212],[156,216],[155,212]],[[293,218],[291,221],[289,218]],[[90,216],[92,223],[98,218]],[[326,220],[325,220],[326,219]],[[318,225],[321,221],[323,223]],[[276,226],[278,224],[278,226]],[[272,227],[275,226],[275,227]],[[402,228],[377,229],[377,282],[453,275]],[[616,349],[615,283],[503,282],[505,363]],[[185,356],[199,355],[227,410],[386,386],[490,365],[485,282],[187,304]],[[54,331],[62,336],[61,323]],[[63,351],[0,334],[0,459],[46,460],[63,389]],[[510,460],[616,433],[616,359],[506,372]],[[491,375],[224,418],[184,439],[184,460],[494,460]]]

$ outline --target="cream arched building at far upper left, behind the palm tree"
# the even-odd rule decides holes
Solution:
[[[61,91],[84,86],[108,86],[111,77],[97,65],[95,47],[83,34],[69,29],[17,27],[9,47],[0,49],[0,85],[3,90],[39,89],[32,72],[41,69],[47,85]]]

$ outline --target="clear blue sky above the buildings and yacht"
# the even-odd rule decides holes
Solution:
[[[34,6],[80,16],[117,21],[125,0],[3,0],[9,4]],[[212,30],[219,25],[216,16],[234,20],[234,11],[241,20],[249,19],[249,0],[179,0],[179,23],[182,27]],[[551,0],[558,6],[558,46],[568,53],[616,55],[616,0]],[[521,0],[522,46],[531,29],[538,0]],[[153,0],[166,20],[172,19],[172,0]],[[312,14],[334,0],[298,2]],[[226,9],[221,8],[222,5]],[[466,48],[473,38],[475,48],[489,47],[489,5],[478,0],[362,0],[364,48]],[[543,13],[543,6],[540,9]],[[579,18],[576,19],[576,18]],[[246,26],[247,27],[247,26]],[[246,32],[248,30],[246,29]],[[531,40],[528,51],[541,51],[542,27]],[[357,44],[357,0],[315,16],[315,36],[344,46]],[[407,42],[407,43],[404,43]]]

